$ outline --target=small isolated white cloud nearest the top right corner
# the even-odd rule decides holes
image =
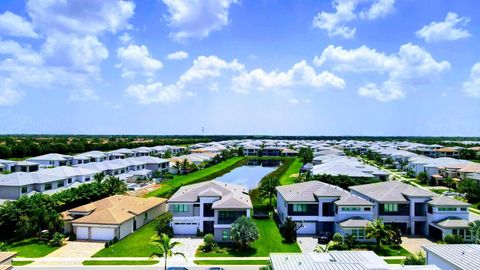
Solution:
[[[431,22],[417,31],[417,36],[426,42],[452,41],[470,36],[468,30],[463,29],[470,19],[458,17],[456,13],[449,12],[443,22]]]

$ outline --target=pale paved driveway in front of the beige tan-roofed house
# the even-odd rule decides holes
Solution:
[[[103,242],[67,241],[67,243],[43,258],[36,259],[30,265],[82,265],[81,261],[65,262],[62,258],[88,258],[105,247]]]

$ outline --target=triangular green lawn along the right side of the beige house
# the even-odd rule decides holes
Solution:
[[[152,221],[93,257],[150,257],[154,249],[149,243],[156,233],[155,221]]]

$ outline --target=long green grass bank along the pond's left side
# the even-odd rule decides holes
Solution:
[[[158,189],[148,193],[146,197],[169,197],[182,185],[189,185],[214,179],[242,166],[246,160],[245,157],[234,157],[203,170],[186,175],[174,176],[173,179],[162,183]]]

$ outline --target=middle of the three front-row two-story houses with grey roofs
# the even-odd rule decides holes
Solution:
[[[277,213],[301,224],[298,234],[322,232],[354,234],[365,241],[365,228],[373,218],[373,203],[320,181],[277,187]]]

